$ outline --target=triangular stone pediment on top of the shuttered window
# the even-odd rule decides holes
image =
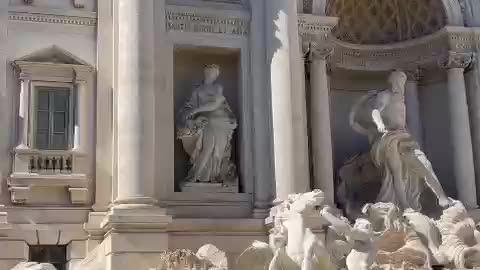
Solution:
[[[86,61],[55,45],[20,57],[16,61],[90,66]]]

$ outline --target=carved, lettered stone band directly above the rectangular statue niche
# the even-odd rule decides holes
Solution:
[[[247,36],[250,19],[238,12],[219,12],[199,8],[167,7],[168,32],[198,32]]]

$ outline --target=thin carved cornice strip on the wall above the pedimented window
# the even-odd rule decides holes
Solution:
[[[8,19],[11,21],[56,23],[56,24],[69,24],[69,25],[79,25],[79,26],[96,26],[97,25],[97,18],[92,18],[92,17],[64,16],[64,15],[28,13],[28,12],[17,12],[17,11],[8,12]]]

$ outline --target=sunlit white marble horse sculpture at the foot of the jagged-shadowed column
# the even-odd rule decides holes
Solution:
[[[272,244],[255,241],[238,258],[238,269],[326,270],[333,269],[324,242],[312,232],[308,218],[319,218],[324,205],[322,191],[293,194],[277,206]]]

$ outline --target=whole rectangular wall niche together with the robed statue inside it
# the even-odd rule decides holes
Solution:
[[[236,193],[239,53],[177,48],[175,185],[177,191]]]

